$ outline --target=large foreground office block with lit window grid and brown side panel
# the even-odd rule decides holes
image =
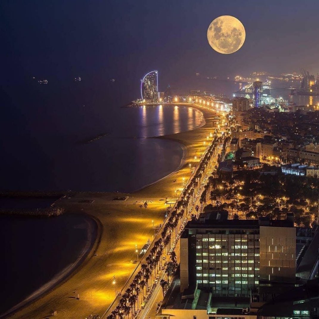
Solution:
[[[260,279],[295,280],[293,219],[234,220],[227,212],[211,212],[185,228],[181,291],[197,286],[215,296],[248,297]]]

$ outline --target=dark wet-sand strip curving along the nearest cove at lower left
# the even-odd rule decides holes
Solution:
[[[100,242],[100,238],[103,232],[103,226],[100,225],[100,221],[97,220],[94,216],[88,214],[79,214],[85,216],[85,222],[88,225],[87,228],[87,239],[85,246],[81,249],[80,254],[75,262],[66,265],[62,271],[58,272],[51,280],[41,285],[38,289],[33,291],[28,295],[24,300],[20,301],[17,305],[8,309],[5,313],[0,314],[0,318],[6,318],[8,316],[14,315],[17,311],[27,307],[36,300],[41,300],[46,293],[56,289],[63,282],[67,281],[72,277],[72,275],[81,269],[84,266],[85,260],[88,255],[95,253],[98,249],[98,246],[94,248],[94,244]],[[22,217],[22,216],[21,216]],[[28,216],[27,216],[28,217]]]

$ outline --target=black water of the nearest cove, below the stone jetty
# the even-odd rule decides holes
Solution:
[[[88,231],[94,241],[96,225],[82,215],[0,216],[0,315],[76,262]]]

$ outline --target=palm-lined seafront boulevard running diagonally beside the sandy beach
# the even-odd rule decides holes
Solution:
[[[195,215],[198,216],[198,211],[203,209],[201,196],[204,185],[208,182],[208,177],[211,176],[215,169],[213,167],[216,164],[217,155],[222,149],[222,144],[219,145],[219,142],[223,140],[223,137],[216,136],[210,144],[204,143],[204,145],[208,145],[205,146],[199,165],[190,176],[189,181],[186,183],[165,222],[160,227],[148,251],[122,288],[121,295],[117,296],[102,318],[108,315],[108,318],[111,319],[117,315],[125,314],[130,306],[132,315],[139,314],[141,308],[141,317],[143,317],[153,306],[152,302],[155,301],[159,292],[158,286],[162,287],[163,292],[164,289],[167,289],[169,279],[173,276],[179,263],[179,248],[176,247],[179,246],[178,239],[187,221]],[[167,281],[165,280],[166,276],[168,277]],[[122,295],[123,291],[125,293]],[[132,300],[134,296],[135,300]],[[134,301],[134,306],[132,301]],[[126,314],[128,315],[128,313]]]

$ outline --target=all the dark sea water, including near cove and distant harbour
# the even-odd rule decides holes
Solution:
[[[241,85],[196,79],[189,89],[231,97]],[[315,97],[290,97],[281,85],[271,91],[273,96],[299,105],[319,103]],[[48,79],[47,85],[40,85],[37,79],[28,78],[2,86],[0,97],[0,190],[132,192],[181,164],[180,143],[153,137],[204,124],[203,114],[187,106],[123,108],[138,97],[138,85],[117,80]],[[0,207],[48,204],[46,200],[6,199]],[[5,256],[0,263],[0,314],[77,259],[92,235],[79,225],[85,225],[81,215],[0,216],[0,256]]]

